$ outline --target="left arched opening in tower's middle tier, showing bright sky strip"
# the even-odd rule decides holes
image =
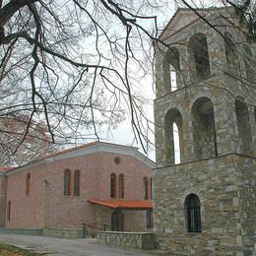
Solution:
[[[164,119],[164,142],[166,163],[180,163],[182,153],[182,116],[176,108],[171,108]]]

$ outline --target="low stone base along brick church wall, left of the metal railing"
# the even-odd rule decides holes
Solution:
[[[43,235],[63,238],[82,238],[85,234],[82,229],[48,227],[43,229]]]

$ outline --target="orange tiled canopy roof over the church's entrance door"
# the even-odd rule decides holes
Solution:
[[[110,209],[129,209],[129,210],[152,210],[153,205],[150,200],[125,200],[125,199],[89,199],[89,203]]]

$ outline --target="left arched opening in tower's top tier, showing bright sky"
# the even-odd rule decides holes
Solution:
[[[177,79],[179,71],[179,51],[175,47],[171,47],[166,52],[163,59],[163,78],[164,83],[170,91],[177,90]]]

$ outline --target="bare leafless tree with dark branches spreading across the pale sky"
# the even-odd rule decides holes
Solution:
[[[223,5],[238,8],[241,2]],[[254,1],[245,2],[255,10]],[[28,117],[23,136],[1,128],[3,135],[19,138],[10,152],[14,154],[30,136],[32,123],[47,127],[45,136],[52,143],[99,140],[99,128],[118,125],[127,112],[135,140],[146,151],[151,126],[143,93],[151,85],[141,89],[140,81],[153,71],[152,42],[160,42],[156,14],[168,4],[163,0],[1,0],[0,117]],[[184,0],[175,4],[190,8],[218,30],[197,11],[206,6]],[[255,12],[247,13],[247,7],[240,9],[240,21],[253,35]]]

